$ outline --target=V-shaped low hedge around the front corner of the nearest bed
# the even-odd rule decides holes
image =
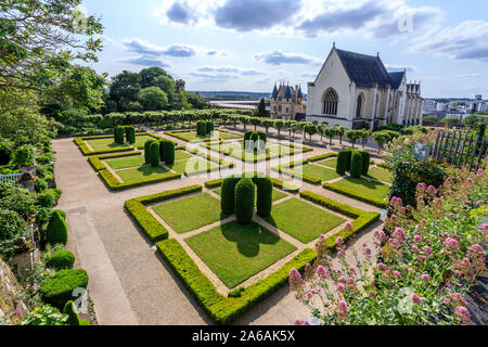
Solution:
[[[202,273],[177,240],[170,239],[159,242],[157,249],[190,290],[196,301],[218,324],[230,323],[256,304],[269,297],[288,283],[290,271],[293,268],[303,271],[305,266],[313,262],[317,257],[313,249],[306,248],[280,270],[246,287],[241,292],[240,297],[228,298],[216,291],[214,284]]]

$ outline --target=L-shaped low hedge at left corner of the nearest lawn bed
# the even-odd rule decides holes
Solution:
[[[156,204],[169,198],[202,192],[202,185],[191,185],[157,194],[141,196],[126,201],[124,207],[132,216],[139,228],[151,242],[157,242],[168,239],[168,231],[156,218],[147,210],[145,205]]]

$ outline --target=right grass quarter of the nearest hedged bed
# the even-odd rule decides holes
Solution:
[[[305,244],[346,221],[298,198],[273,205],[271,216],[266,220]]]

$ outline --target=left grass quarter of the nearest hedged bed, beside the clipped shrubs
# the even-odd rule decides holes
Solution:
[[[221,219],[220,202],[208,193],[163,203],[153,209],[179,234]]]

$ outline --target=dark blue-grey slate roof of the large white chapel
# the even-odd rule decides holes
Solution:
[[[349,78],[357,87],[371,87],[377,83],[380,88],[393,87],[391,78],[380,56],[365,55],[344,50],[336,50]]]

